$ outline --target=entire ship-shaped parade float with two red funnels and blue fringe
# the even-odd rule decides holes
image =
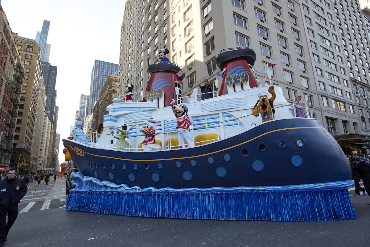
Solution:
[[[177,64],[150,64],[142,102],[114,100],[96,142],[63,140],[79,171],[71,174],[76,187],[67,209],[215,220],[356,219],[342,149],[317,120],[295,117],[281,87],[259,86],[255,59],[251,49],[222,50],[215,97],[191,103],[181,95],[185,75]],[[127,132],[115,127],[123,124]],[[125,148],[113,137],[122,133]]]

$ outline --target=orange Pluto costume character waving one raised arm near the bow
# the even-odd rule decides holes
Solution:
[[[271,94],[270,99],[267,98],[267,93],[260,93],[259,100],[252,110],[252,114],[255,117],[257,117],[258,114],[261,114],[262,123],[275,119],[275,109],[272,109],[274,107],[273,103],[276,98],[274,86],[270,86],[268,91]]]

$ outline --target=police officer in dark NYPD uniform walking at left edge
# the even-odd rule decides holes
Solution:
[[[27,193],[27,185],[16,178],[16,171],[10,169],[6,179],[0,181],[0,247],[4,246],[11,226],[18,216],[18,203]],[[8,216],[8,222],[6,221]]]

